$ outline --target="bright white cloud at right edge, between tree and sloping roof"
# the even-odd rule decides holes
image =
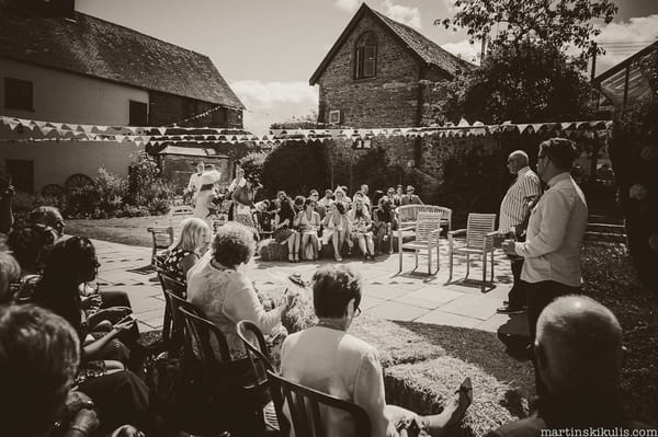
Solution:
[[[658,37],[658,14],[638,16],[602,27],[597,42],[605,55],[597,58],[597,74],[633,56]]]

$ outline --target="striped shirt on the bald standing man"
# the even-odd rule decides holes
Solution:
[[[517,173],[517,181],[510,186],[500,204],[499,232],[508,232],[510,228],[523,223],[530,211],[527,207],[529,197],[538,197],[542,194],[540,177],[524,166]]]

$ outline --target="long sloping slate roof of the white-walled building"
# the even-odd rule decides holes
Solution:
[[[211,59],[76,12],[76,20],[0,8],[0,57],[245,108]]]

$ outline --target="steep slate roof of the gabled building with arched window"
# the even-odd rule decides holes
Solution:
[[[311,85],[317,83],[320,74],[322,71],[325,71],[325,68],[327,68],[352,30],[366,13],[372,14],[372,16],[374,16],[384,26],[384,28],[388,30],[394,37],[399,39],[399,42],[405,46],[405,48],[407,48],[407,50],[409,50],[409,53],[411,53],[411,55],[427,65],[441,68],[451,76],[455,76],[458,70],[468,70],[475,68],[473,64],[461,59],[450,51],[441,48],[441,46],[439,46],[436,43],[421,35],[413,28],[402,23],[398,23],[397,21],[389,19],[383,13],[377,12],[374,9],[371,9],[367,4],[363,3],[348,26],[340,34],[325,59],[322,59],[320,66],[310,77],[309,83]]]

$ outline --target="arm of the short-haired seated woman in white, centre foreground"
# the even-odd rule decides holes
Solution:
[[[376,350],[370,350],[361,357],[354,381],[354,403],[367,413],[372,435],[386,436],[388,418],[384,414],[386,407],[384,376]]]

